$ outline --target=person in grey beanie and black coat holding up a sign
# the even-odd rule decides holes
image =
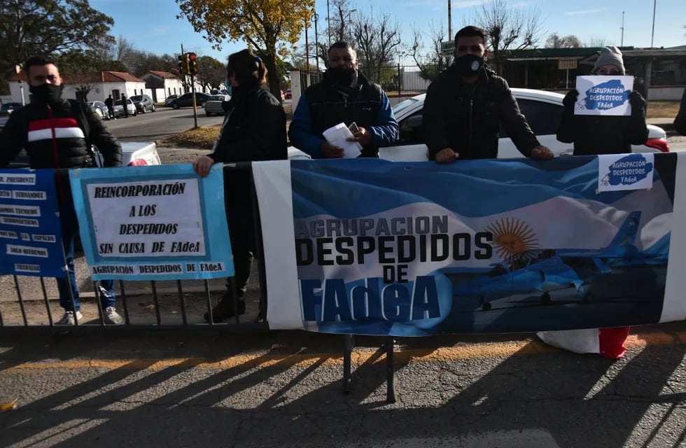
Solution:
[[[601,50],[591,70],[593,75],[624,76],[622,52],[615,45]],[[574,115],[579,92],[570,90],[562,104],[564,111],[557,128],[557,139],[574,144],[574,155],[631,153],[631,145],[642,145],[648,139],[645,125],[645,99],[636,90],[629,94],[631,116]]]

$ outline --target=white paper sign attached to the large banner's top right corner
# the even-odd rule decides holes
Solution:
[[[654,154],[598,155],[598,191],[652,188]]]

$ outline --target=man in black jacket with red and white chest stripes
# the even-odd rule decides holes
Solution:
[[[122,148],[85,103],[62,98],[62,78],[57,66],[45,57],[31,57],[25,64],[29,78],[31,104],[15,111],[0,134],[0,168],[8,166],[25,148],[31,168],[85,168],[95,166],[90,144],[102,153],[105,167],[122,165]],[[66,176],[56,177],[59,223],[66,255],[68,278],[58,278],[59,304],[64,308],[57,324],[73,325],[81,318],[78,288],[73,266],[73,236],[78,230],[71,188]],[[73,292],[73,304],[69,293]],[[121,324],[123,318],[114,307],[114,282],[100,282],[99,294],[106,323]]]

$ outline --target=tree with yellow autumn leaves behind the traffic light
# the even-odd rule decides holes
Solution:
[[[197,32],[221,50],[225,41],[243,39],[267,66],[269,90],[280,97],[277,62],[291,55],[311,20],[314,0],[176,0],[179,18],[188,18]]]

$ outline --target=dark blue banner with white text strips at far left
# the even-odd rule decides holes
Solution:
[[[0,169],[0,274],[63,277],[55,171]]]

